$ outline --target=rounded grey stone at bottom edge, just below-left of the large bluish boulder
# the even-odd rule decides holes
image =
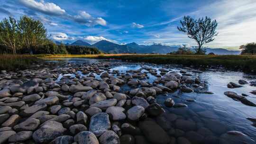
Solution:
[[[78,144],[99,144],[97,137],[90,131],[83,131],[74,136]]]

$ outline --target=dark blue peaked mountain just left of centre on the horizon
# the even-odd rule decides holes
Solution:
[[[101,40],[91,46],[97,47],[105,53],[119,54],[119,53],[135,53],[136,50],[128,45],[119,45],[110,41]]]

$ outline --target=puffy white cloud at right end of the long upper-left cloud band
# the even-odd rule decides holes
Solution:
[[[73,19],[74,21],[85,24],[88,27],[95,25],[107,25],[107,22],[103,18],[93,18],[86,11],[79,11],[78,15],[74,16]]]

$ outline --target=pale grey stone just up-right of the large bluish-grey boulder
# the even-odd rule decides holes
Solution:
[[[112,120],[122,120],[126,118],[124,111],[125,109],[122,107],[109,107],[106,113],[110,115]]]

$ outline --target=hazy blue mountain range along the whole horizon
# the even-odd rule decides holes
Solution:
[[[55,42],[57,45],[60,45],[60,42]],[[87,42],[82,40],[77,40],[72,44],[66,43],[65,45],[79,45],[79,46],[89,46],[89,47],[97,47],[100,51],[104,53],[110,54],[119,54],[119,53],[137,53],[137,54],[167,54],[170,52],[177,51],[180,46],[177,45],[161,45],[161,44],[154,44],[154,45],[138,45],[137,43],[129,43],[126,45],[119,45],[116,43],[112,43],[107,40],[101,40],[93,45],[90,45]],[[228,54],[240,54],[240,51],[229,51],[224,48],[206,48],[207,52],[219,54],[219,55],[228,55]]]

